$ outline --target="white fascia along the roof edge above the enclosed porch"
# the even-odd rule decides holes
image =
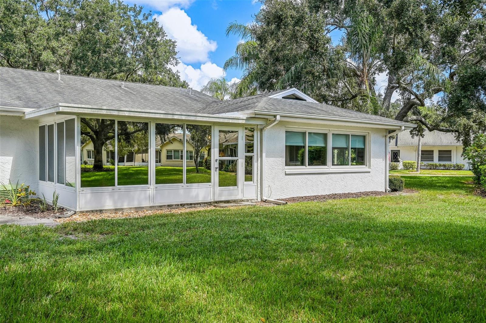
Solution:
[[[37,118],[46,114],[75,114],[75,115],[97,115],[97,116],[116,116],[116,117],[134,117],[144,119],[175,119],[175,120],[192,120],[200,122],[211,123],[234,123],[234,124],[251,124],[251,125],[264,125],[265,120],[256,118],[246,118],[242,116],[223,116],[213,114],[201,114],[201,113],[180,113],[180,112],[165,112],[156,111],[152,109],[138,109],[138,110],[126,110],[117,108],[108,108],[103,106],[91,106],[91,105],[72,105],[59,103],[45,108],[35,109],[34,111],[28,111],[24,114],[24,119]]]

